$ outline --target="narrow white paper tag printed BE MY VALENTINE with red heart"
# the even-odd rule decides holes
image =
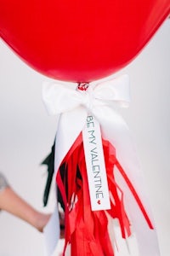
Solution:
[[[99,122],[88,115],[82,130],[92,211],[111,209]]]

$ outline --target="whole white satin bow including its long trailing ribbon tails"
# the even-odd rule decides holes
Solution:
[[[117,159],[133,182],[146,211],[151,216],[150,205],[144,194],[139,161],[133,148],[128,127],[115,110],[116,103],[121,107],[127,107],[130,102],[128,76],[122,75],[95,86],[90,84],[88,90],[85,91],[72,89],[71,85],[45,83],[42,99],[48,113],[58,116],[55,140],[55,172],[59,169],[65,154],[82,131],[88,113],[91,113],[99,121],[102,137],[116,148]],[[117,183],[124,192],[125,207],[136,232],[139,255],[159,256],[155,230],[149,229],[127,184],[118,173],[116,176]]]

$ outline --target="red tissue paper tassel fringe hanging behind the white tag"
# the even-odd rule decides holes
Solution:
[[[118,219],[122,238],[131,235],[130,221],[123,204],[123,193],[116,184],[115,167],[131,190],[150,229],[153,229],[139,195],[116,159],[116,149],[104,139],[102,143],[111,199],[110,210],[91,210],[82,133],[77,137],[76,142],[62,162],[62,165],[65,166],[64,173],[58,172],[57,174],[57,183],[65,203],[65,248],[63,255],[65,255],[67,245],[70,244],[71,256],[114,256],[108,231],[108,216]]]

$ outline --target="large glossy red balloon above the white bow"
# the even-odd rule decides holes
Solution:
[[[90,82],[143,49],[170,0],[0,0],[0,37],[50,78]]]

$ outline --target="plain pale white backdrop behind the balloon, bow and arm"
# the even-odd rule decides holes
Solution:
[[[170,255],[170,20],[120,73],[130,75],[132,102],[122,115],[137,144],[161,256],[167,256]],[[41,99],[42,81],[46,79],[0,41],[0,170],[32,206],[51,212],[54,195],[50,195],[48,208],[42,207],[46,168],[40,166],[55,134],[55,119],[48,117]],[[1,212],[0,256],[23,255],[43,255],[42,234]]]

